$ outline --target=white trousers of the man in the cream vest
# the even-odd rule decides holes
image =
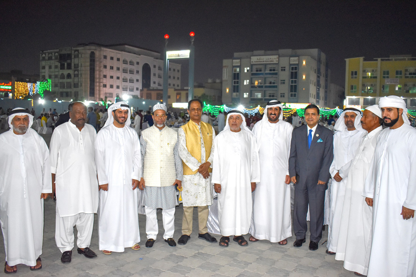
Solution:
[[[146,234],[147,239],[156,240],[157,233],[159,232],[159,226],[157,225],[157,209],[152,209],[145,206],[146,211]],[[162,210],[163,221],[163,239],[173,238],[175,232],[175,208]]]

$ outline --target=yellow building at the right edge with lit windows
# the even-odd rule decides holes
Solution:
[[[347,107],[365,108],[389,95],[402,97],[407,107],[416,106],[416,57],[391,55],[374,61],[364,61],[364,57],[345,60]]]

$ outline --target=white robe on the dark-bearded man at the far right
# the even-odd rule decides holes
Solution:
[[[373,198],[368,276],[416,276],[416,217],[404,220],[402,206],[416,210],[416,130],[403,124],[384,129],[363,196]]]

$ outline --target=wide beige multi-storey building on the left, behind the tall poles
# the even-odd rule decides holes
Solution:
[[[170,62],[169,86],[181,87],[181,65]],[[78,44],[40,52],[40,77],[60,100],[99,101],[162,88],[160,53],[128,44]]]

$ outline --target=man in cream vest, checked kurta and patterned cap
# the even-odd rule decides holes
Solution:
[[[163,239],[176,246],[175,206],[178,205],[175,186],[182,187],[182,161],[178,154],[178,134],[168,126],[166,106],[153,106],[154,125],[143,130],[140,136],[142,176],[139,189],[144,190],[142,203],[146,211],[146,247],[152,247],[159,227],[156,209],[162,209]]]

